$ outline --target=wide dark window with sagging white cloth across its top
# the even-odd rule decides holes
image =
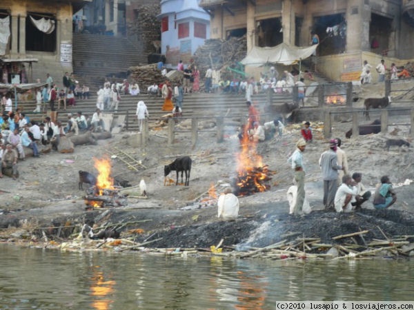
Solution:
[[[35,23],[40,24],[36,25]],[[37,28],[38,26],[42,31]],[[56,43],[56,19],[49,14],[28,12],[26,17],[26,50],[56,52]]]

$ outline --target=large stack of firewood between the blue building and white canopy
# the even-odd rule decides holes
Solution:
[[[246,57],[247,40],[243,37],[230,37],[228,40],[208,39],[194,54],[194,61],[200,70],[200,76],[204,76],[211,65],[221,71]]]

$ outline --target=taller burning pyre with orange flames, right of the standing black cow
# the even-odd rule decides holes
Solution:
[[[268,165],[263,165],[262,156],[257,154],[257,144],[249,141],[245,133],[242,139],[242,151],[237,154],[237,177],[234,180],[235,195],[248,196],[270,189],[266,184],[271,180]]]

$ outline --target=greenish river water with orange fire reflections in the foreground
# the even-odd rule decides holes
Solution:
[[[0,245],[0,309],[275,309],[413,300],[414,260],[238,260]]]

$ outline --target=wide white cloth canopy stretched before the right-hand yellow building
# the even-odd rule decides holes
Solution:
[[[311,45],[306,48],[290,46],[286,43],[279,44],[273,48],[259,48],[255,46],[247,56],[241,61],[244,65],[259,66],[266,63],[282,63],[283,65],[292,65],[301,59],[311,56],[317,48],[317,45]]]

